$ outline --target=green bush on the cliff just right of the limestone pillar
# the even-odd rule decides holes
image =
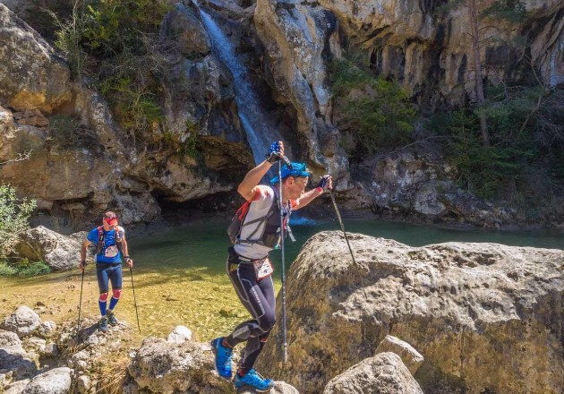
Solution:
[[[340,127],[355,140],[349,153],[362,156],[410,141],[415,110],[397,81],[375,77],[350,60],[334,59],[329,73]]]

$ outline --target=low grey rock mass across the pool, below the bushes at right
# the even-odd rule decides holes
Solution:
[[[517,219],[513,210],[461,190],[453,180],[455,168],[432,151],[395,150],[366,160],[359,169],[365,187],[361,193],[347,193],[346,207],[351,210],[365,206],[369,200],[382,214],[414,220],[502,227]]]

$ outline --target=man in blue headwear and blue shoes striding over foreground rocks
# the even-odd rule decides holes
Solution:
[[[235,373],[234,382],[237,390],[249,386],[256,391],[265,392],[274,386],[273,381],[263,378],[255,371],[254,364],[275,324],[276,295],[271,278],[274,267],[269,260],[269,252],[277,248],[280,242],[279,203],[282,201],[284,205],[285,232],[289,233],[287,221],[291,211],[303,208],[327,191],[332,184],[331,177],[325,176],[317,188],[305,192],[310,176],[305,164],[291,163],[290,166],[285,164],[281,168],[282,196],[280,198],[278,176],[270,180],[271,186],[259,182],[270,167],[283,158],[282,141],[272,143],[267,159],[249,171],[237,189],[246,201],[251,202],[242,221],[240,233],[234,237],[235,244],[229,248],[226,271],[236,294],[251,313],[252,319],[237,325],[226,337],[211,341],[216,353],[216,370],[219,376],[225,379],[232,378],[233,348],[246,342]]]

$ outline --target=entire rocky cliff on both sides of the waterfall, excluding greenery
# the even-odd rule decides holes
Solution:
[[[474,3],[480,15],[484,79],[493,84],[526,82],[533,66],[546,86],[564,82],[564,7],[559,0],[505,4],[501,11],[513,20],[499,17],[499,7],[505,6],[500,2]],[[215,10],[230,39],[238,42],[237,52],[244,53],[256,77],[253,83],[272,107],[269,113],[275,114],[284,134],[290,134],[286,140],[299,146],[295,159],[308,162],[314,181],[331,173],[348,208],[503,226],[520,218],[459,191],[453,171],[440,164],[440,158],[427,159],[414,150],[399,157],[368,158],[363,178],[356,170],[351,176],[336,126],[341,108],[334,106],[328,85],[329,58],[343,56],[346,50],[360,56],[375,74],[394,76],[421,106],[473,101],[470,4],[202,2]],[[157,218],[161,201],[189,201],[234,190],[235,182],[252,167],[252,154],[237,116],[233,76],[214,55],[191,2],[175,4],[161,23],[159,39],[167,48],[155,79],[167,132],[157,127],[155,133],[160,141],[192,141],[197,156],[166,143],[133,147],[105,99],[88,89],[86,81],[73,81],[53,47],[22,21],[31,22],[36,6],[28,0],[0,4],[0,54],[9,59],[0,61],[4,182],[37,199],[42,210],[63,210],[80,222],[111,207],[125,224]],[[42,29],[38,21],[33,26]],[[16,161],[26,152],[31,152],[30,158]],[[417,169],[410,173],[409,167]],[[556,221],[551,224],[561,226],[561,220]]]

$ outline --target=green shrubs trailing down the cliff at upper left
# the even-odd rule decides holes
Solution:
[[[56,46],[75,77],[98,84],[132,141],[150,143],[162,124],[154,73],[158,27],[171,9],[166,0],[76,1],[68,21],[59,21]]]

